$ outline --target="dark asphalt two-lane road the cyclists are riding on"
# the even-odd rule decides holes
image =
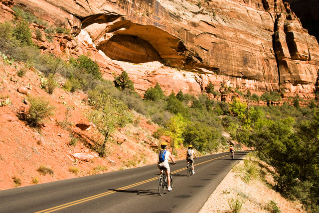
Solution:
[[[0,191],[0,213],[196,213],[231,167],[247,152],[195,159],[187,177],[185,160],[170,165],[173,190],[159,196],[157,165]]]

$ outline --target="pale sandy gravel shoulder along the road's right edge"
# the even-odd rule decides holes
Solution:
[[[243,168],[244,161],[233,167],[199,213],[230,213],[230,204],[234,204],[236,200],[242,202],[241,213],[269,213],[273,209],[270,205],[271,201],[276,203],[282,213],[305,213],[300,203],[284,199],[260,179],[253,179],[246,183],[247,181],[245,182],[243,178]],[[265,178],[269,184],[273,185],[273,178],[269,172],[266,173]]]

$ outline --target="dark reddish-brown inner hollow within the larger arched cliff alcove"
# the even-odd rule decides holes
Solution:
[[[101,42],[97,49],[118,61],[137,64],[162,61],[159,53],[148,41],[134,35],[113,35],[109,40]]]

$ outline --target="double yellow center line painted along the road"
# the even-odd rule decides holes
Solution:
[[[228,156],[228,155],[226,155],[226,156]],[[222,157],[225,157],[225,156],[221,156],[221,157],[218,157],[218,158],[222,158]],[[204,161],[204,162],[201,162],[201,163],[197,163],[197,164],[194,164],[194,166],[197,166],[197,165],[200,165],[200,164],[203,164],[203,163],[207,163],[209,161],[213,161],[213,160],[216,160],[218,158],[214,158],[214,159],[210,159],[210,160],[207,160],[207,161]],[[185,169],[186,169],[185,167],[182,168],[182,169],[178,169],[176,171],[171,172],[171,174],[175,174],[175,173],[183,171]],[[77,201],[73,201],[73,202],[70,202],[70,203],[67,203],[67,204],[63,204],[63,205],[60,205],[60,206],[52,207],[50,209],[42,210],[42,211],[35,212],[35,213],[44,213],[44,212],[45,213],[51,213],[51,212],[55,212],[55,211],[58,211],[58,210],[61,210],[61,209],[65,209],[67,207],[75,206],[75,205],[78,205],[78,204],[81,204],[81,203],[84,203],[84,202],[87,202],[87,201],[91,201],[91,200],[94,200],[94,199],[97,199],[97,198],[101,198],[101,197],[116,193],[117,191],[120,191],[120,190],[126,190],[126,189],[129,189],[129,188],[135,187],[135,186],[139,186],[139,185],[142,185],[142,184],[157,180],[158,178],[159,177],[154,177],[154,178],[151,178],[151,179],[148,179],[148,180],[145,180],[145,181],[141,181],[141,182],[138,182],[138,183],[135,183],[135,184],[131,184],[131,185],[128,185],[128,186],[125,186],[125,187],[118,188],[118,189],[113,190],[113,191],[104,192],[104,193],[101,193],[101,194],[98,194],[98,195],[94,195],[94,196],[91,196],[91,197],[83,198],[83,199],[80,199],[80,200],[77,200]]]

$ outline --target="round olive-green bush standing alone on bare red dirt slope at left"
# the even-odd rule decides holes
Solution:
[[[26,121],[30,126],[40,127],[43,120],[54,114],[54,106],[49,106],[49,101],[42,97],[30,97],[30,108],[26,112]]]

